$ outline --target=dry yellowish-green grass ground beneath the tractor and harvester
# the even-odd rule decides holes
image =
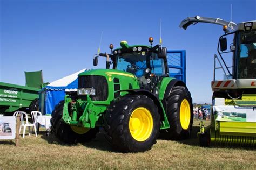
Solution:
[[[208,122],[207,122],[208,123]],[[53,134],[21,138],[21,147],[14,140],[0,140],[0,169],[255,169],[254,148],[198,146],[195,121],[192,137],[184,141],[157,140],[144,153],[118,153],[97,134],[89,143],[68,146]]]

